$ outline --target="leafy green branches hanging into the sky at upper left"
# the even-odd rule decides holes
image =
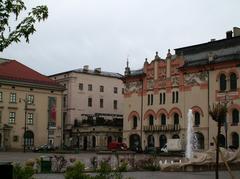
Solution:
[[[29,42],[29,36],[33,34],[35,23],[45,20],[48,17],[47,6],[37,6],[24,17],[19,20],[21,12],[27,8],[22,0],[0,0],[0,52],[7,48],[11,43],[20,42],[24,38]],[[11,25],[11,19],[15,18],[17,25]]]

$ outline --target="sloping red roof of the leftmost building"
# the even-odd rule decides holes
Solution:
[[[0,63],[0,80],[34,83],[61,87],[55,81],[19,63],[16,60],[9,60]]]

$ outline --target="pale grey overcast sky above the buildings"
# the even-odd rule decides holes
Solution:
[[[47,5],[30,43],[0,55],[51,75],[89,65],[123,73],[142,68],[159,52],[225,38],[240,26],[239,0],[25,0]]]

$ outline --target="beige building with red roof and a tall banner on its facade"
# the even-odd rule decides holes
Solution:
[[[62,142],[62,92],[46,76],[15,60],[0,60],[0,148]],[[25,141],[25,145],[24,145]]]

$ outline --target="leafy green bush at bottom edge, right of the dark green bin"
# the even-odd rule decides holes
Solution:
[[[65,173],[65,179],[91,179],[92,177],[84,173],[85,165],[80,161],[73,166],[68,167]]]

